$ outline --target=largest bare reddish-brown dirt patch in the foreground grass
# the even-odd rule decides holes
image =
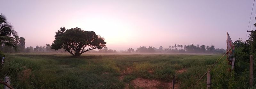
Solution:
[[[159,80],[150,80],[144,78],[136,78],[131,81],[134,88],[144,88],[144,89],[172,89],[172,82],[163,82]],[[175,89],[179,89],[179,84],[175,84]]]

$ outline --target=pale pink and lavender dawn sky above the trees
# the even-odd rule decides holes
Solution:
[[[115,50],[140,46],[168,48],[174,44],[204,44],[226,49],[226,32],[234,41],[248,38],[252,2],[0,0],[0,12],[26,39],[26,47],[52,44],[55,32],[65,26],[94,31],[105,39],[109,49]],[[253,10],[252,17],[255,12]]]

